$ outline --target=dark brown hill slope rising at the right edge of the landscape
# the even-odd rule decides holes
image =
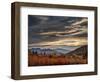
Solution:
[[[87,45],[81,46],[81,47],[75,49],[74,51],[67,53],[67,55],[84,55],[84,56],[87,56],[87,54],[88,54],[88,46]]]

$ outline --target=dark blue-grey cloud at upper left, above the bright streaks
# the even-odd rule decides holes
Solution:
[[[57,17],[57,16],[33,16],[29,15],[29,28],[35,32],[35,30],[64,30],[65,25],[70,25],[82,18],[77,17]],[[62,26],[62,27],[61,27]],[[60,27],[60,28],[59,28]]]

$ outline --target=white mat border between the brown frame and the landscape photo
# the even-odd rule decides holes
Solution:
[[[73,14],[73,12],[75,14]],[[28,67],[28,14],[88,17],[88,64]],[[94,72],[94,11],[38,7],[20,8],[20,75]],[[91,45],[92,44],[92,45]],[[89,56],[90,55],[90,56]],[[73,69],[74,68],[74,69]]]

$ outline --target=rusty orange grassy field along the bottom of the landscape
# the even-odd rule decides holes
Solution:
[[[83,55],[35,55],[28,54],[28,66],[45,66],[45,65],[71,65],[87,64],[87,57]]]

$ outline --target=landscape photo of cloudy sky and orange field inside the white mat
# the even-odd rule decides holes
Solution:
[[[28,66],[88,63],[88,18],[28,15]]]

